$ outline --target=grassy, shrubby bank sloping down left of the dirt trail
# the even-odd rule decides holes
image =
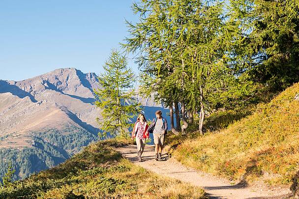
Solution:
[[[111,146],[124,142],[92,143],[63,164],[0,187],[0,198],[206,198],[198,187],[123,159]]]

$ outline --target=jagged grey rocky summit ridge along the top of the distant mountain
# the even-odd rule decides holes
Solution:
[[[54,90],[62,94],[93,98],[97,82],[95,73],[83,73],[76,68],[59,68],[23,81],[1,81],[0,93],[14,90],[14,95],[20,96],[26,92],[28,96],[36,96],[45,90]]]

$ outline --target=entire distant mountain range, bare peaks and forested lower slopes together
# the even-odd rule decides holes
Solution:
[[[101,118],[94,102],[95,73],[61,68],[23,81],[0,80],[0,176],[7,162],[15,179],[64,162],[82,147],[98,140]],[[137,99],[146,117],[158,109],[151,98]]]

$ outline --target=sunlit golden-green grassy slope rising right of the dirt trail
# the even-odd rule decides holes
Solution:
[[[269,184],[289,184],[299,170],[299,84],[227,129],[186,139],[175,157],[183,164],[247,180],[259,177]],[[193,136],[194,137],[194,136]]]

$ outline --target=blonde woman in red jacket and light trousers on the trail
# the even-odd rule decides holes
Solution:
[[[136,138],[138,162],[142,162],[141,155],[149,138],[149,125],[144,114],[139,114],[132,131],[132,140]]]

